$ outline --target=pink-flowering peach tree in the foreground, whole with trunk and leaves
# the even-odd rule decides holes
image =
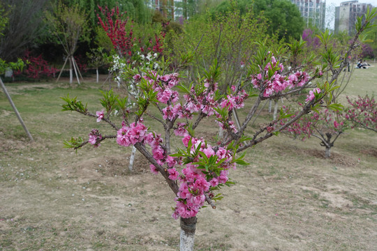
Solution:
[[[349,50],[353,46],[355,42]],[[79,112],[98,123],[107,123],[114,130],[113,135],[103,135],[94,129],[89,132],[89,139],[71,138],[65,144],[73,149],[88,143],[98,147],[103,140],[110,139],[119,146],[135,146],[149,161],[151,172],[162,175],[174,193],[172,217],[180,219],[180,249],[193,250],[198,213],[206,204],[216,208],[216,201],[223,198],[219,192],[231,184],[230,171],[236,165],[248,165],[244,151],[278,135],[312,109],[334,106],[328,96],[337,88],[334,80],[338,75],[333,75],[330,84],[319,82],[316,88],[320,91],[315,91],[295,116],[281,112],[280,119],[288,119],[283,125],[274,120],[252,131],[246,128],[263,100],[302,91],[320,78],[327,66],[310,72],[305,66],[287,70],[267,47],[260,45],[244,81],[220,93],[221,69],[216,61],[191,84],[183,82],[184,76],[179,73],[165,71],[164,64],[158,70],[133,70],[131,66],[127,69],[127,76],[140,90],[134,109],[128,109],[127,98],[120,98],[112,91],[103,93],[103,111],[96,113],[90,112],[77,98],[63,98],[64,111]],[[341,61],[339,70],[345,66],[346,62]],[[250,109],[246,110],[245,102],[252,103]],[[121,112],[121,121],[110,119],[113,109]],[[235,126],[233,117],[236,109],[246,114],[239,127]],[[217,142],[200,137],[198,126],[204,119],[216,121],[226,132]],[[176,137],[180,140],[172,140]]]

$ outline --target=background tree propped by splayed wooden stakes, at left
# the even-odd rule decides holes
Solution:
[[[81,10],[78,5],[66,6],[60,1],[54,6],[52,13],[46,13],[46,21],[50,27],[52,34],[57,39],[57,43],[63,46],[66,54],[66,61],[62,70],[69,61],[69,83],[73,82],[73,70],[77,77],[77,82],[80,84],[78,74],[80,74],[77,63],[73,54],[77,50],[77,43],[79,40],[87,40],[87,16],[84,10]],[[61,72],[59,74],[59,77]],[[58,77],[58,80],[59,80]]]

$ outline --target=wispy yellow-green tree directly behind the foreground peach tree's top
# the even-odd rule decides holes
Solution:
[[[188,68],[190,79],[196,77],[199,69],[209,70],[216,59],[223,69],[219,84],[224,92],[242,74],[245,76],[245,66],[258,47],[255,42],[265,37],[271,45],[266,29],[264,17],[255,16],[251,11],[242,15],[235,4],[226,15],[200,15],[189,20],[182,33],[168,32],[164,54],[177,67],[182,55],[191,52],[195,61]]]

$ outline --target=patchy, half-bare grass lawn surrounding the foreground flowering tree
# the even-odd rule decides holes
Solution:
[[[131,149],[114,142],[64,149],[92,128],[114,134],[61,112],[68,93],[101,109],[90,81],[6,84],[33,143],[0,93],[0,250],[179,250],[174,195],[141,155],[129,172]],[[341,100],[376,92],[377,66],[355,69]],[[213,121],[199,133],[215,135]],[[318,140],[285,135],[249,149],[216,210],[198,214],[195,250],[375,250],[376,133],[348,130],[323,155]]]

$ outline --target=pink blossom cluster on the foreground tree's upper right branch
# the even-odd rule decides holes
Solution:
[[[301,71],[297,71],[289,76],[284,75],[284,66],[281,63],[278,66],[279,70],[276,70],[274,75],[269,77],[269,70],[275,68],[277,64],[278,62],[275,57],[272,56],[271,63],[267,63],[267,66],[263,69],[263,73],[253,75],[251,78],[254,88],[263,91],[264,97],[272,96],[272,94],[279,93],[287,88],[291,89],[296,86],[303,86],[309,79],[309,75]]]

